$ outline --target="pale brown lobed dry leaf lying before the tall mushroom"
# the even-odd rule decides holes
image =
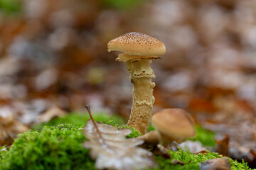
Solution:
[[[112,125],[96,123],[100,131],[97,133],[92,120],[87,121],[84,128],[85,148],[90,148],[92,159],[96,159],[97,169],[147,169],[156,166],[151,152],[137,147],[143,140],[126,138],[132,131],[129,129],[117,130]]]

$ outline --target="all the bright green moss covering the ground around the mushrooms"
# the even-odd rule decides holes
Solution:
[[[87,120],[85,115],[68,115],[66,118],[58,118],[50,121],[48,125],[56,125],[65,122],[73,122],[76,125],[56,125],[46,126],[38,125],[41,129],[29,130],[28,132],[18,135],[12,147],[6,152],[0,152],[0,170],[43,170],[43,169],[95,169],[95,162],[89,157],[89,150],[82,147],[82,142],[85,137],[82,134],[83,124]],[[95,119],[101,122],[116,125],[122,124],[122,120],[117,118],[114,121],[109,121],[105,115],[95,116]],[[120,121],[120,122],[119,122]],[[80,125],[82,124],[82,125]],[[117,126],[117,125],[116,125]],[[117,128],[129,128],[126,125]],[[141,135],[137,130],[130,128],[133,132],[129,137],[137,137]],[[153,128],[151,128],[153,130]],[[203,135],[204,130],[201,127],[196,128],[198,135],[194,140],[198,139],[201,142],[207,142],[206,136]],[[208,131],[207,131],[208,133]],[[213,135],[213,134],[212,134]],[[210,135],[212,137],[212,135]],[[203,136],[203,137],[202,137]],[[212,140],[210,140],[212,141]],[[156,169],[199,169],[200,162],[208,159],[222,157],[217,153],[207,152],[205,154],[191,154],[179,150],[178,152],[170,151],[172,159],[164,159],[156,157],[156,162],[159,167]],[[181,164],[172,164],[173,159],[184,162]],[[245,162],[238,163],[230,160],[232,170],[249,169]]]

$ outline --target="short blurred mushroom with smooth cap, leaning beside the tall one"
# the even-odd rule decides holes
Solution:
[[[159,143],[166,146],[173,141],[183,142],[196,134],[193,118],[181,108],[168,108],[154,113],[152,125],[156,130],[141,136],[148,146]]]

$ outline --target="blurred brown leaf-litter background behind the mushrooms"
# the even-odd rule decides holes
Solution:
[[[255,164],[255,8],[254,0],[0,0],[1,133],[14,120],[29,127],[50,119],[41,116],[50,108],[85,104],[127,120],[132,84],[107,42],[142,32],[167,50],[152,64],[154,112],[186,109],[230,157]]]

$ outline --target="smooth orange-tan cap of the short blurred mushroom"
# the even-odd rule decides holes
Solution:
[[[193,118],[181,108],[168,108],[154,113],[152,125],[162,137],[176,142],[182,142],[196,134]]]

